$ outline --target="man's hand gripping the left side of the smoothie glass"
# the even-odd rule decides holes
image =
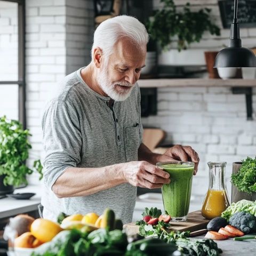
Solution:
[[[123,165],[124,179],[141,188],[161,188],[170,183],[169,173],[146,161],[128,162]]]

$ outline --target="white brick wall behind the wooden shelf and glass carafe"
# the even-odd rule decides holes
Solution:
[[[210,7],[212,16],[221,27],[221,36],[205,33],[199,43],[190,48],[221,49],[227,44],[229,29],[223,29],[217,0],[174,0],[182,7],[189,2],[193,10]],[[154,7],[161,6],[154,0]],[[255,46],[255,28],[242,28],[241,37],[245,47]],[[175,47],[175,44],[172,44]],[[230,87],[172,87],[158,89],[158,113],[142,118],[144,126],[160,127],[167,132],[171,143],[191,145],[198,151],[201,163],[194,177],[192,193],[203,198],[208,186],[207,162],[225,161],[227,187],[230,194],[232,163],[246,156],[256,155],[256,90],[253,90],[253,121],[246,121],[244,95],[234,95]],[[190,107],[189,107],[190,106]]]

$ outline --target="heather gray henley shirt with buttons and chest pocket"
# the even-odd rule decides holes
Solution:
[[[58,198],[52,191],[68,167],[102,167],[138,160],[142,142],[138,84],[129,98],[114,102],[110,108],[110,98],[91,90],[80,72],[65,77],[60,93],[43,115],[43,216],[56,221],[60,212],[100,215],[110,207],[117,218],[131,222],[137,188],[129,183],[89,196]]]

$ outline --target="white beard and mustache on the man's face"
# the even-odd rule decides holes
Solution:
[[[132,91],[133,85],[129,82],[114,82],[111,83],[106,66],[103,67],[101,73],[97,77],[97,82],[101,87],[102,91],[105,92],[111,99],[115,101],[124,101],[126,100]],[[129,90],[116,90],[116,85],[123,85],[130,87]]]

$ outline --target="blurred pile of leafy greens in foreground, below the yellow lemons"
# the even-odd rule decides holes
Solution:
[[[125,255],[127,237],[121,230],[98,229],[89,234],[73,229],[61,233],[38,247],[32,256]]]

